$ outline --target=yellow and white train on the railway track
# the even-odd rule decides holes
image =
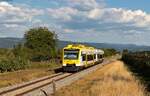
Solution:
[[[82,44],[69,44],[63,48],[62,69],[65,72],[76,72],[102,63],[104,51]]]

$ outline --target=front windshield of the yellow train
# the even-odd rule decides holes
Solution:
[[[79,50],[64,50],[64,59],[78,59]]]

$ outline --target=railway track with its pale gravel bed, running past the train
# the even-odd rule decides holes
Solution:
[[[0,96],[45,96],[45,94],[52,94],[55,90],[73,83],[109,62],[108,60],[104,60],[101,64],[76,73],[57,73],[19,86],[0,89]]]

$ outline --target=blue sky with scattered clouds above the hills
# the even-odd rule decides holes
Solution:
[[[48,27],[58,39],[150,46],[148,0],[0,0],[0,37]]]

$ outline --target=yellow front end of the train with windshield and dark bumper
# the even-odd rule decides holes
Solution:
[[[68,45],[63,49],[63,70],[66,72],[79,71],[83,68],[80,62],[81,48],[77,45]]]

